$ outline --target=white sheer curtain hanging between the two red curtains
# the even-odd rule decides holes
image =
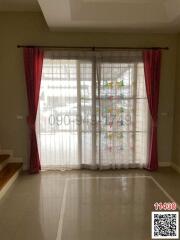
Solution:
[[[36,130],[42,169],[146,165],[141,52],[47,51]]]

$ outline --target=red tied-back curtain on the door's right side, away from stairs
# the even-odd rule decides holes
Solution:
[[[145,50],[143,52],[144,73],[149,111],[151,115],[149,155],[147,169],[158,169],[157,123],[159,104],[159,83],[161,70],[161,50]]]

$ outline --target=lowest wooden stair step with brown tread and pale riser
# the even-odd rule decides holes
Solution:
[[[0,198],[9,189],[11,184],[18,177],[19,172],[22,168],[22,163],[8,163],[0,171]]]

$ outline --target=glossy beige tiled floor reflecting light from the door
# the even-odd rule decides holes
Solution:
[[[148,240],[160,187],[180,203],[179,185],[170,168],[24,173],[0,201],[0,239]]]

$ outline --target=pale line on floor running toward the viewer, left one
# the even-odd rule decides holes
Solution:
[[[66,196],[67,196],[68,181],[69,181],[69,179],[66,179],[66,181],[65,181],[65,186],[64,186],[64,191],[63,191],[63,200],[62,200],[62,206],[61,206],[61,211],[60,211],[60,218],[59,218],[59,223],[58,223],[58,231],[57,231],[56,240],[61,240],[61,237],[62,237],[63,220],[64,220],[64,214],[65,214],[65,208],[66,208]]]

